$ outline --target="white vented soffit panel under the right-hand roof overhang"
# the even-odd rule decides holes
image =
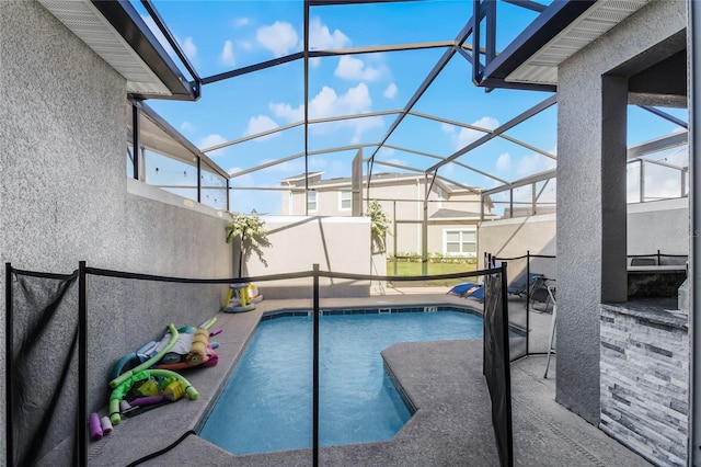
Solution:
[[[524,61],[506,81],[558,84],[558,66],[650,0],[599,0],[540,50]]]

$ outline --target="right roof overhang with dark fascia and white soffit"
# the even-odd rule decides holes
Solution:
[[[558,67],[650,0],[555,0],[494,60],[480,86],[556,91]]]

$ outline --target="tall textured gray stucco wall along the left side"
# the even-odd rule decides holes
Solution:
[[[85,260],[151,274],[230,276],[223,219],[127,193],[125,99],[125,80],[43,7],[2,3],[2,262],[66,273]],[[0,282],[4,287],[4,274]],[[89,278],[89,409],[106,405],[105,372],[115,358],[160,338],[168,322],[212,316],[223,294],[221,286]],[[4,328],[4,300],[0,317]],[[4,413],[4,361],[0,367]],[[47,361],[44,369],[53,368]],[[4,434],[2,423],[3,458]]]

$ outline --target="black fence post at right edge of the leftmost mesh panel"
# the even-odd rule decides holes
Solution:
[[[78,465],[88,465],[88,287],[85,262],[78,263]]]

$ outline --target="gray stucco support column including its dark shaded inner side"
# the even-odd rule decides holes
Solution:
[[[597,425],[600,304],[624,301],[627,81],[559,70],[556,400]]]

